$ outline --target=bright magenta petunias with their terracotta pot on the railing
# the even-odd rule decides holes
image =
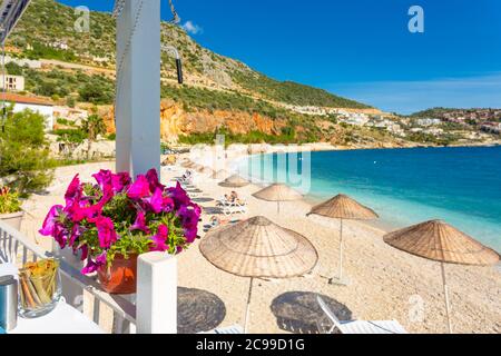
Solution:
[[[155,169],[136,181],[109,170],[92,177],[96,184],[72,179],[65,206],[49,210],[40,234],[80,254],[81,273],[97,273],[106,291],[135,293],[137,256],[185,250],[197,238],[200,207],[179,184],[163,186]]]

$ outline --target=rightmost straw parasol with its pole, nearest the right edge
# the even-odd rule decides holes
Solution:
[[[384,236],[384,241],[405,253],[440,261],[449,333],[452,333],[444,264],[490,266],[500,256],[472,237],[441,220],[413,225]]]

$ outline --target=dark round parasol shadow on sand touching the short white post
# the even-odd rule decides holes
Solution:
[[[177,333],[208,332],[223,323],[226,307],[213,293],[195,288],[177,288]]]

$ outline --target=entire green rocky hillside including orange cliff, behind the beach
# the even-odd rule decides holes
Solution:
[[[75,29],[79,16],[73,8],[55,0],[32,0],[8,39],[6,49],[14,61],[7,69],[10,75],[24,77],[27,95],[50,98],[68,107],[97,106],[112,132],[115,19],[110,13],[92,11],[89,31],[79,32]],[[175,60],[163,55],[165,141],[209,142],[215,134],[225,134],[230,141],[240,142],[411,145],[400,130],[400,119],[383,120],[376,108],[322,89],[274,80],[238,60],[203,48],[181,28],[166,22],[161,24],[161,38],[178,49],[185,69],[185,85],[179,86],[175,80]],[[42,67],[28,68],[22,63],[24,59],[39,60]],[[338,112],[344,112],[344,117]],[[383,121],[371,127],[350,121],[366,122],[369,118],[357,117],[362,112]],[[381,125],[392,130],[381,129]],[[419,137],[420,144],[430,141],[423,137]]]

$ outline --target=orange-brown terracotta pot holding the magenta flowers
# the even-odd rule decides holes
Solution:
[[[102,289],[109,294],[136,293],[137,255],[130,254],[128,259],[116,255],[109,268],[99,267],[98,277]]]

